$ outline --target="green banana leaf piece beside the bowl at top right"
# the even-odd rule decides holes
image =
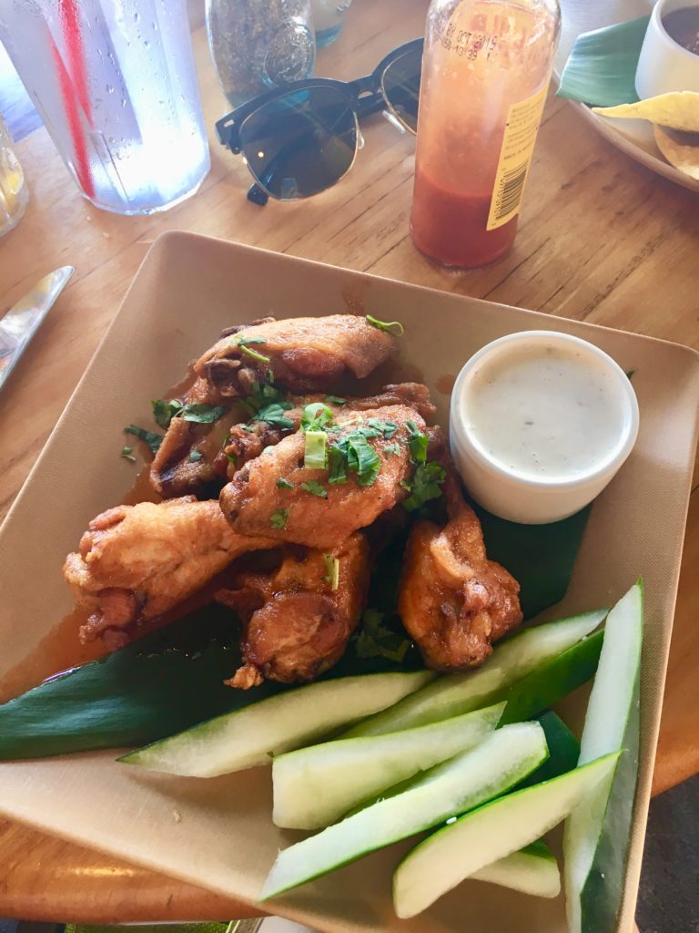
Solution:
[[[579,35],[563,69],[558,97],[600,107],[634,104],[638,56],[650,19],[643,16]]]

